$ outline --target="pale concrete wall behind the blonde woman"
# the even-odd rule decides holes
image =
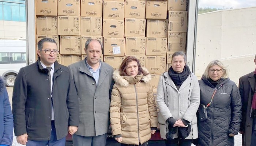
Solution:
[[[221,59],[238,83],[240,76],[255,69],[256,7],[229,9],[198,15],[195,74]]]

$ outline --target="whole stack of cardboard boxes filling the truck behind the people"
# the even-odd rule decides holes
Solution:
[[[152,74],[157,89],[172,54],[186,49],[187,0],[35,1],[36,40],[56,40],[57,59],[63,65],[84,59],[87,39],[98,39],[103,61],[116,70],[125,57],[135,56]]]

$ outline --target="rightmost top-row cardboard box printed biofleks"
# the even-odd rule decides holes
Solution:
[[[166,19],[167,1],[148,0],[146,6],[146,19]]]

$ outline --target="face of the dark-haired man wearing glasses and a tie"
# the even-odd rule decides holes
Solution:
[[[57,50],[57,45],[52,42],[44,42],[42,50],[46,50],[46,49]],[[57,54],[54,55],[53,52],[51,52],[50,54],[46,54],[45,51],[42,51],[42,50],[37,50],[37,54],[40,57],[41,62],[47,67],[54,64],[57,58]]]

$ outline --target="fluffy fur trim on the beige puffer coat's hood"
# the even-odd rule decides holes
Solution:
[[[142,69],[143,69],[144,71],[146,71],[147,73],[149,73],[146,68],[142,68]],[[137,76],[140,76],[140,75],[137,75]],[[128,85],[129,85],[129,82],[124,78],[124,76],[121,76],[121,75],[120,75],[119,70],[114,71],[114,73],[113,73],[113,79],[114,79],[114,81],[115,81],[116,84],[119,84],[119,85],[122,86],[122,87],[128,87]],[[151,79],[152,79],[151,74],[148,74],[148,75],[146,75],[146,76],[143,76],[143,77],[141,78],[141,81],[142,81],[142,82],[145,82],[145,83],[147,84],[147,83],[150,82]]]

